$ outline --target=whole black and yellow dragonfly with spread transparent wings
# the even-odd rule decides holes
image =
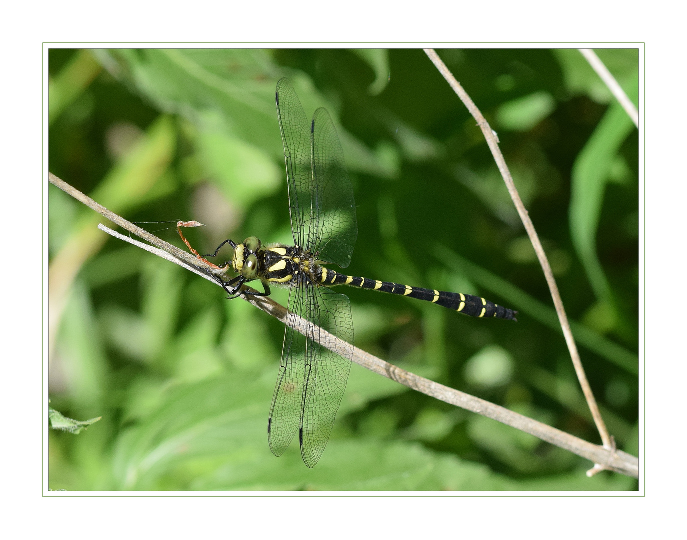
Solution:
[[[515,321],[517,312],[471,294],[410,287],[387,281],[341,274],[324,265],[348,267],[357,239],[357,219],[353,189],[343,162],[341,142],[332,118],[319,108],[311,120],[288,79],[277,83],[275,92],[279,128],[284,146],[286,182],[293,246],[262,244],[249,237],[236,244],[231,263],[222,271],[233,270],[236,277],[225,281],[222,272],[212,276],[229,299],[241,295],[269,296],[270,285],[289,287],[289,312],[308,323],[305,334],[287,326],[282,359],[267,421],[269,448],[276,456],[284,453],[298,434],[303,462],[313,468],[322,456],[334,426],[339,404],[346,389],[352,357],[334,352],[334,338],[353,343],[350,302],[335,292],[335,285],[400,294],[436,303],[449,310],[478,318]],[[180,223],[190,226],[192,222]],[[259,280],[263,292],[243,289]],[[352,352],[350,353],[352,354]]]

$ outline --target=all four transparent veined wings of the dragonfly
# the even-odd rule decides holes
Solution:
[[[308,122],[286,79],[277,83],[277,114],[284,144],[291,229],[297,246],[320,260],[348,266],[357,237],[353,191],[341,143],[324,109]],[[353,343],[348,298],[308,281],[291,282],[289,312],[307,325],[304,334],[286,327],[282,363],[272,398],[268,438],[281,455],[299,433],[303,461],[314,467],[334,425],[351,358],[330,351],[332,336]],[[323,332],[324,331],[324,332]],[[329,335],[331,334],[331,335]]]

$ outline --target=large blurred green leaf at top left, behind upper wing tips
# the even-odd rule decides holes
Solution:
[[[254,155],[263,153],[280,166],[283,164],[274,89],[277,80],[284,75],[291,79],[306,115],[324,106],[333,118],[336,117],[335,107],[317,93],[304,74],[286,72],[262,50],[111,50],[98,51],[98,57],[159,109],[183,116],[201,133],[222,133],[227,140],[233,141],[234,147],[240,144],[232,151],[234,160],[240,157],[240,150],[252,147]],[[336,118],[335,123],[338,124]],[[393,164],[380,160],[339,125],[337,131],[350,170],[387,177],[396,175],[397,168],[390,168]],[[258,164],[264,159],[258,158]],[[214,166],[218,164],[217,160],[213,163]],[[242,163],[243,169],[249,166]],[[266,173],[265,167],[263,163],[256,170],[271,186],[271,172]],[[233,178],[232,185],[239,180]],[[247,184],[245,180],[243,183]]]

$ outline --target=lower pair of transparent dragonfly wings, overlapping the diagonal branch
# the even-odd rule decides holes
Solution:
[[[343,294],[301,283],[289,294],[289,311],[315,326],[308,327],[306,336],[286,327],[270,411],[269,446],[281,455],[299,433],[303,461],[313,468],[329,440],[351,360],[320,345],[320,329],[352,342],[350,304]],[[326,334],[322,338],[325,344],[331,339]]]

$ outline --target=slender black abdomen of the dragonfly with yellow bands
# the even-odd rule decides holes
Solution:
[[[377,281],[364,277],[347,276],[323,267],[318,268],[318,270],[320,269],[322,270],[322,274],[317,276],[317,281],[323,285],[349,285],[350,287],[379,290],[390,294],[400,294],[401,296],[409,296],[417,300],[435,303],[436,305],[447,307],[449,310],[457,311],[471,317],[504,318],[508,321],[516,320],[515,314],[517,312],[509,310],[502,305],[496,305],[480,296],[411,287],[410,285],[400,285],[399,283],[390,283],[389,281]]]

